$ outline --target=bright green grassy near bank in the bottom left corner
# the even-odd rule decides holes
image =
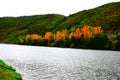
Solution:
[[[0,80],[22,80],[20,74],[0,60]]]

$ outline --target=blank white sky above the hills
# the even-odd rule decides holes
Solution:
[[[120,0],[0,0],[0,17],[70,14]]]

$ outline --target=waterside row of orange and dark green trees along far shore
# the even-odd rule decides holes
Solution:
[[[27,34],[18,44],[63,48],[120,50],[120,35],[108,36],[101,27],[83,26],[75,30],[46,32],[45,35]]]

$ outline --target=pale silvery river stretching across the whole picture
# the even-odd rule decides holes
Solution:
[[[120,52],[0,44],[23,80],[120,80]]]

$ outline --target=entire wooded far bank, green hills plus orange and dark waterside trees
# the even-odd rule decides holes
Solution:
[[[69,16],[46,14],[1,17],[0,42],[120,50],[120,2]]]

